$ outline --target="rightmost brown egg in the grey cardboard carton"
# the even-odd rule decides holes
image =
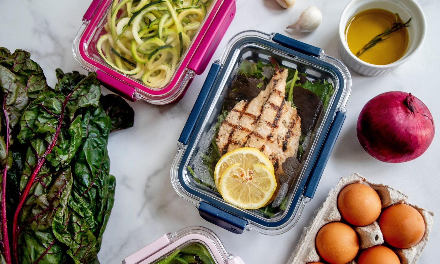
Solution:
[[[415,246],[425,235],[423,216],[412,206],[391,205],[379,218],[385,242],[400,249]]]

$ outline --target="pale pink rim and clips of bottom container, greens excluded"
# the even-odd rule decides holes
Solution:
[[[122,260],[122,264],[155,263],[177,248],[191,242],[201,243],[209,250],[217,264],[245,264],[240,257],[227,253],[220,239],[205,227],[186,227],[176,233],[168,233]]]

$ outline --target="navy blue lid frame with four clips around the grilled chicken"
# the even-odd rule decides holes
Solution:
[[[290,58],[293,62],[297,63],[298,69],[301,67],[307,68],[308,65],[313,66],[313,70],[310,71],[311,73],[307,73],[308,77],[311,74],[310,77],[313,78],[313,74],[321,70],[333,78],[337,82],[338,87],[335,87],[335,93],[332,97],[334,99],[330,101],[331,103],[326,110],[326,113],[329,114],[326,115],[326,119],[321,121],[320,127],[323,132],[314,139],[316,148],[307,154],[308,162],[307,166],[304,166],[302,170],[303,176],[297,183],[294,193],[290,194],[289,201],[292,206],[287,206],[287,211],[281,213],[278,217],[269,219],[260,216],[256,211],[250,212],[229,205],[221,199],[220,195],[213,195],[208,187],[194,187],[187,180],[189,176],[187,165],[191,161],[191,156],[197,152],[198,136],[194,135],[204,135],[206,129],[209,129],[210,125],[216,122],[216,117],[221,112],[220,105],[223,104],[221,102],[223,102],[225,90],[230,84],[229,79],[231,75],[236,73],[236,63],[240,58],[237,58],[237,52],[229,52],[224,59],[224,65],[213,64],[179,139],[181,143],[186,145],[186,148],[178,165],[178,181],[187,194],[202,201],[199,206],[199,213],[203,218],[235,233],[241,233],[249,221],[251,224],[263,229],[276,230],[286,226],[293,220],[301,197],[313,198],[325,163],[330,156],[334,142],[345,119],[345,113],[339,111],[339,99],[345,96],[346,93],[345,89],[343,89],[345,86],[344,73],[330,61],[319,57],[322,53],[321,49],[290,39],[281,34],[275,34],[273,41],[257,36],[242,37],[235,41],[230,50],[239,50],[242,54],[247,54],[246,52],[248,52],[247,49],[250,49],[249,47],[260,49],[263,55],[268,50],[270,51],[268,53],[275,52],[281,59],[283,56],[287,59]],[[214,109],[212,109],[213,107]],[[336,118],[334,118],[335,114]],[[206,118],[209,119],[208,122],[205,122]],[[209,125],[207,125],[208,123]],[[321,148],[321,146],[326,147]]]

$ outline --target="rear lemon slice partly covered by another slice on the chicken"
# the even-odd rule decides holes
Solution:
[[[245,171],[252,169],[254,164],[261,164],[268,167],[272,174],[275,173],[272,162],[261,153],[260,150],[254,147],[240,147],[224,154],[217,162],[216,168],[214,169],[214,180],[216,182],[217,190],[220,191],[220,177],[223,175],[224,171],[233,164],[239,164],[238,166]]]

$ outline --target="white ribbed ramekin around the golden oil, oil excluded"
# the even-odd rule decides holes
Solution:
[[[345,41],[345,27],[350,18],[357,13],[370,9],[382,8],[393,13],[398,13],[403,21],[411,18],[407,27],[409,35],[408,48],[405,54],[397,60],[386,65],[375,65],[357,58],[348,48]],[[422,46],[426,33],[426,19],[422,8],[414,0],[352,0],[342,11],[339,20],[339,53],[342,60],[352,70],[366,76],[378,76],[387,73],[409,60]]]

